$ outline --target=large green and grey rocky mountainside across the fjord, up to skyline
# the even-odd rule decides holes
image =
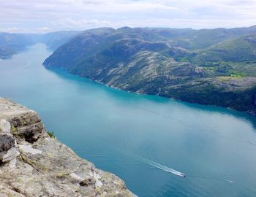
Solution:
[[[256,27],[98,28],[44,62],[116,88],[255,114]]]

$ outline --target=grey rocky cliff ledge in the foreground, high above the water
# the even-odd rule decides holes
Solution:
[[[36,112],[0,98],[0,196],[135,196],[48,136]]]

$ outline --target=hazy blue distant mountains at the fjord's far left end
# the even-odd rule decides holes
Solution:
[[[57,31],[48,34],[9,34],[0,32],[0,58],[10,58],[20,50],[26,49],[30,45],[42,42],[50,49],[56,50],[78,31]]]

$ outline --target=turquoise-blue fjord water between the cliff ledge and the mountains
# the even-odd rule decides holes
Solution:
[[[48,70],[42,62],[50,53],[38,44],[0,60],[0,96],[36,110],[78,155],[124,179],[138,196],[256,196],[255,117]]]

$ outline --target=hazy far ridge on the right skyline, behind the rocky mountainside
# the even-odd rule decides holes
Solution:
[[[141,39],[148,41],[164,41],[174,47],[183,47],[188,50],[197,50],[216,45],[227,39],[236,39],[256,32],[256,26],[249,28],[119,28],[117,34],[137,34]]]

